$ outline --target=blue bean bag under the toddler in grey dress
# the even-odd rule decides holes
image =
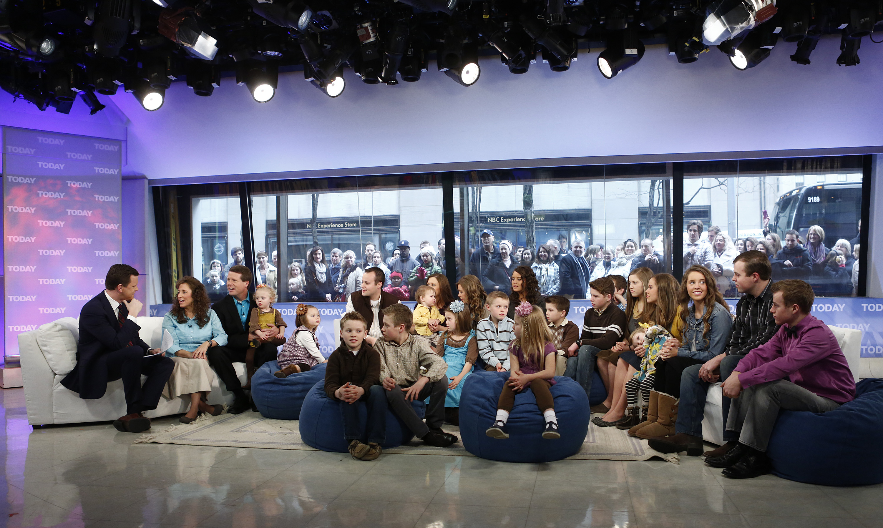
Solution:
[[[277,378],[273,375],[279,370],[275,359],[261,365],[252,376],[252,399],[260,414],[272,419],[298,419],[306,393],[316,381],[325,380],[325,366],[320,363],[306,373]]]

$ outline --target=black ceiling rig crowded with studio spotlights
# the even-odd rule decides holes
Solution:
[[[782,45],[810,65],[814,49],[839,41],[837,64],[853,66],[862,40],[879,40],[880,11],[879,0],[0,0],[0,88],[39,109],[83,103],[94,114],[123,86],[153,111],[177,82],[208,97],[235,76],[255,102],[274,104],[280,72],[303,71],[339,97],[348,70],[369,85],[442,82],[427,73],[434,62],[472,87],[490,56],[513,74],[538,54],[567,72],[595,42],[606,42],[595,64],[608,79],[651,42],[680,64],[716,46],[750,70]]]

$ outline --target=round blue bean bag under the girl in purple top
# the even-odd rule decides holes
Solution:
[[[497,440],[485,431],[494,423],[497,401],[509,373],[475,372],[464,381],[460,399],[460,439],[472,455],[502,462],[552,462],[576,455],[589,429],[589,400],[576,381],[555,376],[552,397],[561,438],[542,437],[546,422],[530,388],[515,396],[509,413],[509,438]]]

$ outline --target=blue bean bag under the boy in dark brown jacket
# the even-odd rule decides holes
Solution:
[[[343,438],[343,418],[340,414],[340,406],[343,404],[328,397],[325,394],[325,380],[322,379],[306,394],[303,407],[300,408],[300,420],[298,428],[300,438],[311,448],[335,453],[348,452],[349,443]],[[368,421],[368,410],[363,402],[358,402],[359,420],[364,427]],[[419,400],[411,403],[417,416],[423,418],[426,415],[426,404]],[[364,429],[363,429],[364,430]],[[411,429],[404,426],[404,422],[387,411],[387,439],[381,446],[383,449],[397,448],[398,446],[413,440],[414,434]]]

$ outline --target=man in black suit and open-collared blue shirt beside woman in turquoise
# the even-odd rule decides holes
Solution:
[[[230,414],[247,411],[250,407],[245,389],[233,368],[234,363],[245,363],[245,352],[249,342],[258,336],[249,333],[248,319],[258,305],[248,294],[248,285],[253,281],[252,270],[245,266],[233,266],[227,274],[227,291],[230,295],[212,305],[212,310],[221,320],[223,331],[227,333],[227,344],[208,349],[208,364],[215,369],[227,390],[236,396],[236,400],[227,409]],[[254,349],[254,368],[257,369],[267,361],[276,358],[275,344],[261,339],[263,343]]]

